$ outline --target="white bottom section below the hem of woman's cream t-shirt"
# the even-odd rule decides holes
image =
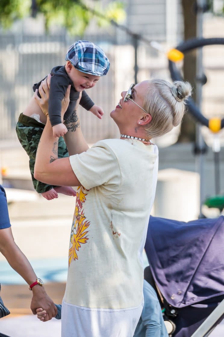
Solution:
[[[143,301],[128,309],[92,309],[63,301],[61,337],[133,337]]]

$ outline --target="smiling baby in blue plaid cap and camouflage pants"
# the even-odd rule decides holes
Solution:
[[[70,103],[64,114],[65,124],[76,110],[78,104],[101,119],[103,110],[100,106],[94,104],[85,89],[93,88],[100,79],[100,76],[106,75],[110,66],[109,60],[103,50],[98,45],[89,41],[76,41],[72,44],[66,53],[65,60],[66,64],[64,66],[56,66],[51,70],[52,77],[48,102],[48,114],[53,135],[60,137],[58,140],[58,158],[69,156],[65,142],[61,137],[68,131],[61,120],[61,100],[64,97],[66,89],[71,85]],[[34,84],[34,92],[39,89],[43,80]],[[19,116],[16,124],[16,133],[19,142],[30,158],[30,172],[34,188],[47,200],[57,198],[57,193],[75,196],[76,192],[72,187],[52,186],[37,181],[34,178],[37,147],[45,124],[46,116],[33,96],[24,113],[21,113]]]

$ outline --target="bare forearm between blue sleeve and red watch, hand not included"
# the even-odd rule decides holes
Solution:
[[[0,229],[0,252],[5,256],[10,266],[30,285],[37,276],[28,259],[15,244],[11,227]]]

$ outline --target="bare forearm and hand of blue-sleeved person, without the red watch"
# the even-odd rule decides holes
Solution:
[[[11,227],[0,229],[0,252],[5,256],[10,266],[30,285],[36,281],[37,276],[28,259],[15,244]],[[28,290],[29,291],[29,290]],[[45,308],[48,319],[54,317],[57,309],[46,294],[43,286],[35,285],[32,288],[31,310],[36,314],[36,309]]]

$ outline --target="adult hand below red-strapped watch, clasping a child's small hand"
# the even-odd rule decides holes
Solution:
[[[46,311],[46,316],[44,317],[44,321],[50,320],[52,317],[55,317],[57,314],[57,308],[54,305],[54,302],[50,299],[50,297],[45,292],[44,287],[35,285],[32,288],[33,298],[31,301],[30,308],[34,315],[36,315],[37,308],[43,308]]]

